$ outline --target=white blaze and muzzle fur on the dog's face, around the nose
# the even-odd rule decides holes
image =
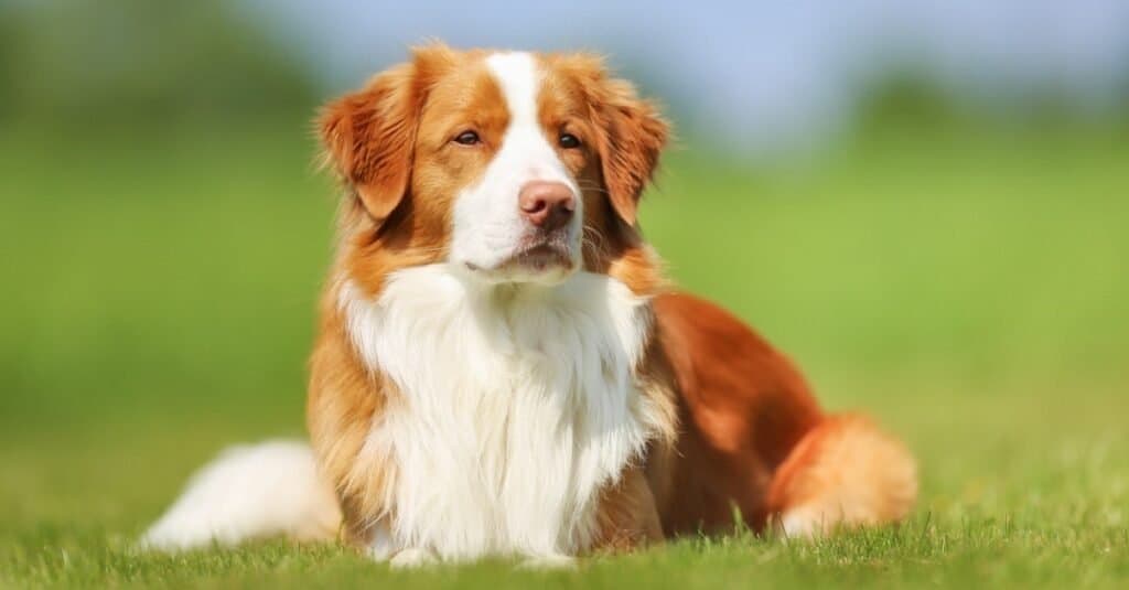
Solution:
[[[481,180],[455,199],[450,259],[462,266],[495,270],[501,280],[523,272],[497,268],[522,248],[531,229],[520,215],[518,192],[527,182],[552,181],[572,189],[576,210],[568,227],[568,246],[574,264],[579,264],[584,203],[576,180],[546,140],[537,118],[541,72],[536,60],[528,53],[496,53],[487,58],[487,67],[506,99],[509,125]],[[523,278],[553,283],[569,270],[553,269],[545,276]]]

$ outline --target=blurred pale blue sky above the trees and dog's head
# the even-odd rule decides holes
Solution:
[[[861,84],[900,62],[989,102],[1054,83],[1101,107],[1129,83],[1121,0],[243,1],[330,89],[428,38],[589,49],[676,105],[684,129],[752,147],[833,129]]]

